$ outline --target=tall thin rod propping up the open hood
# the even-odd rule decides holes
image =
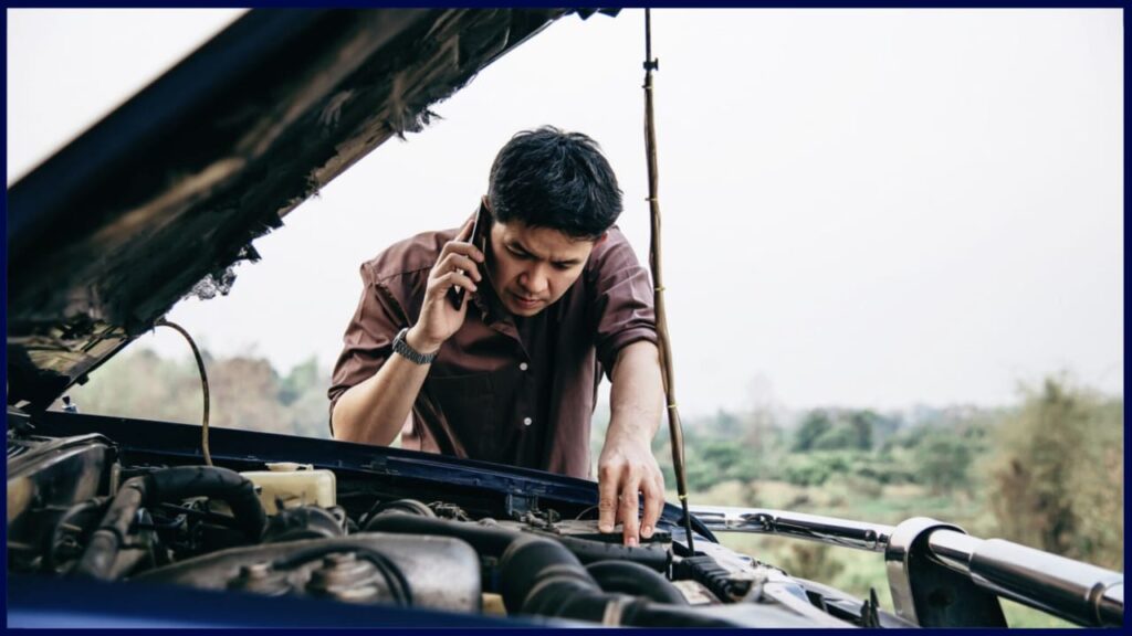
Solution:
[[[652,16],[644,10],[644,143],[649,164],[649,210],[652,217],[652,239],[649,244],[649,267],[652,270],[653,304],[657,311],[657,340],[660,344],[661,377],[664,380],[664,401],[668,406],[668,432],[672,446],[672,470],[676,473],[676,492],[684,508],[684,532],[688,551],[695,555],[692,534],[692,515],[688,514],[688,482],[684,469],[684,429],[676,409],[676,378],[672,375],[672,349],[668,337],[664,315],[664,283],[660,273],[660,199],[657,196],[657,123],[652,114],[652,71],[660,70],[659,60],[652,57]]]

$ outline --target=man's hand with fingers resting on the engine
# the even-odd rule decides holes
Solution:
[[[644,497],[644,515],[637,526],[637,492]],[[664,506],[664,476],[652,455],[650,440],[643,436],[612,431],[598,461],[598,530],[612,532],[624,524],[626,545],[636,545],[638,536],[649,539]]]

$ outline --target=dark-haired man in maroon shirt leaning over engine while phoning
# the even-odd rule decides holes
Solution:
[[[423,450],[589,479],[601,372],[610,422],[599,530],[649,538],[663,504],[650,441],[663,389],[652,285],[614,223],[597,144],[520,132],[491,166],[480,227],[428,232],[361,266],[328,395],[338,439],[388,445],[412,412]],[[453,290],[466,290],[453,300]],[[638,492],[644,513],[637,519]]]

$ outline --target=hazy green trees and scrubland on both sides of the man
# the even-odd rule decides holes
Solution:
[[[315,358],[286,372],[251,355],[204,358],[212,426],[329,437],[329,369]],[[147,349],[113,358],[69,396],[82,412],[140,419],[199,423],[203,410],[195,362]],[[1123,569],[1123,397],[1050,377],[1024,388],[1014,405],[921,411],[909,418],[814,409],[790,421],[766,411],[719,411],[688,420],[693,500],[877,523],[937,516],[976,535]],[[607,419],[599,409],[594,458]],[[663,427],[653,446],[675,489]],[[717,490],[726,500],[711,499]],[[797,560],[807,568],[823,562]]]

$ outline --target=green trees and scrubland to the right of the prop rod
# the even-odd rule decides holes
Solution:
[[[971,534],[1123,570],[1123,397],[1063,376],[1020,393],[1012,406],[941,409],[916,421],[815,409],[786,424],[721,411],[685,423],[688,488],[694,499],[737,481],[730,496],[746,500],[731,505],[771,507],[760,491],[789,484],[809,495],[786,504],[817,514],[831,513],[813,507],[812,493],[839,491],[839,513],[890,524],[931,505],[928,516],[963,522]],[[653,445],[670,457],[667,431]],[[670,462],[662,469],[675,488]]]

